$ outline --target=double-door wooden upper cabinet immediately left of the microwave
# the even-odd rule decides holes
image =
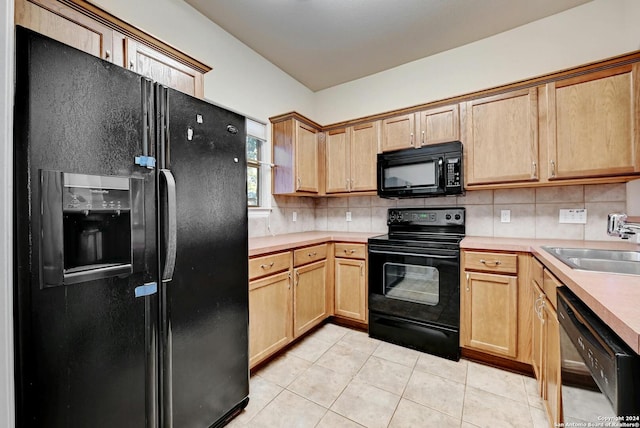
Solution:
[[[376,190],[379,129],[376,121],[326,132],[326,193]]]

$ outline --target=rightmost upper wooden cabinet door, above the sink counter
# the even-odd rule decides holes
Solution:
[[[640,171],[639,67],[548,84],[550,179]]]

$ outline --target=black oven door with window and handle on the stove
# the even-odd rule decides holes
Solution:
[[[460,251],[369,245],[369,310],[460,326]]]

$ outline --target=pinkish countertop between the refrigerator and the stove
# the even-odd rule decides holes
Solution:
[[[249,257],[290,250],[292,248],[306,247],[307,245],[321,244],[328,241],[366,244],[367,239],[376,235],[381,235],[381,233],[324,231],[286,233],[284,235],[249,238]]]

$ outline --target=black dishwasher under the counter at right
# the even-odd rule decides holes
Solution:
[[[558,321],[565,426],[637,426],[640,356],[567,287],[558,289]]]

